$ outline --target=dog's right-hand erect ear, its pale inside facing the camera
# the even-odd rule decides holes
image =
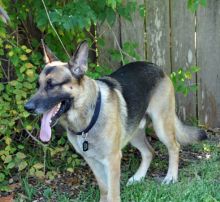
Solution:
[[[76,52],[69,61],[69,68],[73,75],[81,77],[88,69],[89,47],[87,41],[79,44]]]

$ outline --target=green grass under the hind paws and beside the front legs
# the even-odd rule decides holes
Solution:
[[[218,154],[219,155],[219,154]],[[75,201],[98,201],[97,190],[81,193]],[[129,187],[122,183],[122,201],[134,202],[217,202],[220,201],[220,157],[214,154],[180,170],[179,182],[161,185],[153,179]]]

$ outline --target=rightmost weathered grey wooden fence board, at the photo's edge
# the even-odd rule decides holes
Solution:
[[[197,15],[199,119],[220,127],[220,1],[209,0]]]

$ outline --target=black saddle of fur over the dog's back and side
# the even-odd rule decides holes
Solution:
[[[113,86],[114,80],[118,82],[118,88],[127,105],[127,125],[135,126],[146,113],[152,90],[165,74],[153,63],[133,62],[119,68],[108,77],[111,80],[107,77],[100,80],[109,86]]]

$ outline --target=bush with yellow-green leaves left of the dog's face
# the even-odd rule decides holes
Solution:
[[[7,34],[2,22],[0,24],[0,55],[6,58],[0,64],[3,81],[0,84],[0,182],[4,182],[11,171],[22,171],[28,166],[27,136],[22,135],[24,129],[33,130],[38,126],[36,118],[28,119],[30,115],[23,106],[36,88],[36,72],[42,56],[26,45],[19,45],[13,35]]]

